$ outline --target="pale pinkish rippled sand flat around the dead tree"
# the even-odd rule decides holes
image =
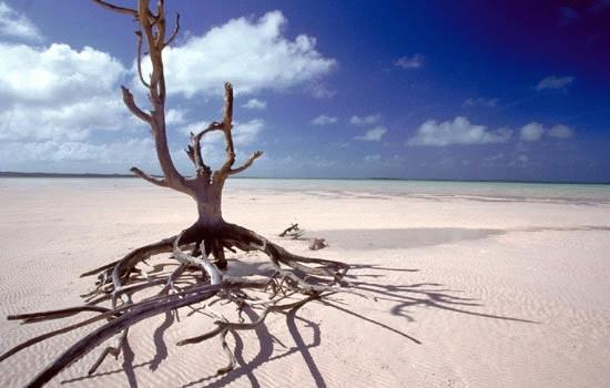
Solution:
[[[130,180],[0,180],[0,315],[80,303],[79,274],[193,221],[187,197]],[[299,254],[277,235],[298,222],[331,246],[315,255],[356,266],[358,287],[267,328],[217,341],[174,344],[211,327],[161,316],[130,333],[130,349],[88,377],[94,354],[62,387],[608,387],[610,204],[365,193],[228,191],[225,218]],[[233,257],[233,256],[232,256]],[[238,255],[246,274],[264,266]],[[172,325],[173,324],[173,325]],[[0,353],[61,321],[0,320]],[[73,343],[64,335],[0,364],[0,385],[24,385]]]

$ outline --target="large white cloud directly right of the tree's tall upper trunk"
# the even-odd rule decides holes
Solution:
[[[225,81],[244,94],[316,82],[336,61],[316,51],[315,38],[285,38],[286,23],[279,11],[258,20],[233,19],[204,35],[189,38],[182,45],[167,48],[163,59],[169,93],[216,95]],[[150,73],[148,60],[143,73]]]

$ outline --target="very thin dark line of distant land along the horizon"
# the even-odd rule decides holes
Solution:
[[[153,175],[162,177],[161,175]],[[77,178],[112,178],[112,177],[138,177],[133,174],[99,174],[99,173],[23,173],[16,171],[0,171],[0,177],[77,177]],[[318,181],[413,181],[413,182],[489,182],[489,183],[531,183],[531,184],[591,184],[610,185],[610,182],[596,181],[518,181],[518,180],[440,180],[440,178],[410,178],[410,177],[273,177],[273,176],[234,176],[237,180],[318,180]]]

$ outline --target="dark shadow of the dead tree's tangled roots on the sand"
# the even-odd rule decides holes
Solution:
[[[165,270],[171,270],[172,266],[166,266]],[[231,259],[230,263],[232,276],[243,276],[252,274],[267,274],[270,268],[266,263],[244,263],[237,259]],[[154,270],[148,273],[148,276],[151,276],[151,273],[154,275],[163,276],[165,270],[162,267],[154,267]],[[388,313],[396,316],[401,316],[406,319],[407,323],[416,320],[416,309],[414,307],[426,307],[426,308],[439,308],[457,314],[466,314],[470,316],[477,316],[480,318],[487,319],[502,319],[510,320],[523,324],[536,324],[532,320],[521,319],[517,317],[508,317],[494,314],[484,314],[474,310],[476,307],[481,307],[482,305],[476,299],[468,298],[465,296],[459,296],[459,292],[451,290],[440,284],[436,283],[418,283],[418,284],[384,284],[382,279],[385,277],[385,274],[388,273],[414,273],[418,269],[408,269],[408,268],[390,268],[377,265],[353,265],[350,275],[348,275],[348,282],[358,292],[365,293],[369,296],[369,299],[358,299],[356,304],[349,304],[347,307],[346,304],[342,303],[338,298],[317,300],[312,303],[322,303],[325,306],[335,308],[342,313],[345,313],[348,316],[352,316],[357,319],[363,319],[376,327],[389,330],[390,333],[397,336],[397,339],[404,339],[408,343],[411,343],[414,346],[421,344],[417,338],[405,333],[404,328],[393,327],[384,321],[374,319],[365,314],[358,312],[358,307],[363,303],[375,303],[376,300],[384,300],[392,303],[392,307]],[[153,275],[153,276],[154,276]],[[367,280],[370,279],[370,280]],[[373,282],[374,279],[374,282]],[[379,282],[379,283],[377,283]],[[337,294],[340,297],[342,294]],[[254,331],[258,340],[257,346],[255,344],[248,345],[256,346],[258,353],[250,360],[246,360],[244,357],[244,339],[237,331],[231,331],[235,348],[233,349],[237,366],[234,370],[230,371],[226,375],[207,375],[196,378],[182,387],[224,387],[227,384],[235,381],[240,378],[247,378],[248,382],[253,387],[261,387],[265,384],[261,384],[256,378],[256,369],[265,363],[271,363],[276,359],[281,359],[293,354],[299,354],[303,358],[305,366],[308,368],[309,374],[315,381],[317,387],[326,387],[324,377],[316,365],[314,357],[311,354],[311,349],[321,345],[321,327],[307,319],[304,316],[298,315],[298,308],[293,308],[288,312],[285,312],[286,317],[286,327],[288,328],[289,335],[292,336],[293,345],[286,346],[282,344],[277,338],[275,338],[268,330],[265,325],[260,325]],[[257,318],[257,310],[245,309],[245,315],[248,319],[254,320]],[[130,387],[138,387],[138,381],[135,377],[135,370],[145,366],[149,366],[151,370],[156,370],[159,365],[167,357],[167,345],[165,344],[164,334],[166,329],[174,324],[174,315],[167,313],[165,319],[162,324],[154,330],[153,338],[156,347],[156,353],[153,358],[146,363],[141,363],[133,365],[134,353],[126,344],[126,348],[123,351],[123,364],[121,368],[93,374],[91,376],[83,376],[70,380],[64,380],[62,384],[69,382],[79,382],[90,378],[96,378],[100,376],[106,376],[111,374],[124,372],[126,380]],[[303,334],[303,330],[307,330],[306,335]],[[222,359],[222,357],[221,357]],[[203,360],[202,360],[203,361]],[[222,363],[221,363],[222,364]],[[222,366],[222,365],[220,365]],[[196,371],[194,368],[193,371]]]

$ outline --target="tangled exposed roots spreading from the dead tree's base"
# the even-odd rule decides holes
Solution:
[[[202,253],[197,245],[202,243],[199,242],[204,242],[203,244],[207,244],[211,248],[204,248]],[[192,248],[192,252],[183,251],[185,247]],[[224,258],[224,248],[227,247],[265,253],[270,257],[275,273],[268,278],[224,276],[209,256],[218,262],[220,252],[222,251],[221,257]],[[164,274],[161,278],[149,277],[145,280],[134,275],[138,274],[135,267],[140,262],[170,251],[172,252],[170,257],[179,263],[175,269]],[[194,284],[191,282],[192,269],[201,270],[202,274]],[[205,303],[203,309],[215,318],[214,328],[201,336],[183,339],[177,345],[199,344],[218,337],[222,350],[228,359],[227,366],[217,370],[218,374],[224,374],[236,365],[235,356],[226,343],[228,333],[255,329],[257,326],[264,325],[266,317],[272,313],[298,307],[334,293],[354,293],[349,288],[342,287],[344,284],[342,278],[347,269],[348,266],[340,262],[291,254],[255,232],[238,225],[224,222],[214,228],[193,225],[175,237],[140,247],[112,265],[83,274],[98,274],[96,287],[84,296],[90,300],[84,306],[9,316],[9,319],[33,323],[72,317],[83,313],[96,314],[80,323],[31,338],[1,355],[0,361],[48,338],[106,320],[105,324],[93,329],[60,354],[28,386],[44,385],[70,364],[98,346],[108,344],[91,366],[89,372],[92,374],[108,355],[115,357],[120,355],[129,328],[134,324],[181,307],[194,308],[193,305]],[[187,284],[187,286],[180,289],[176,287],[177,283]],[[140,297],[139,300],[135,300],[140,293],[159,286],[161,289],[156,293],[152,295],[149,293],[151,296]],[[247,289],[256,290],[258,295],[265,293],[266,297],[250,296],[245,292]],[[288,303],[282,303],[287,299],[289,299]],[[110,303],[110,306],[98,305],[103,302]],[[222,314],[211,310],[211,306],[218,302],[236,306],[237,321],[232,321]],[[260,309],[261,312],[254,320],[244,321],[242,313],[245,308]]]

